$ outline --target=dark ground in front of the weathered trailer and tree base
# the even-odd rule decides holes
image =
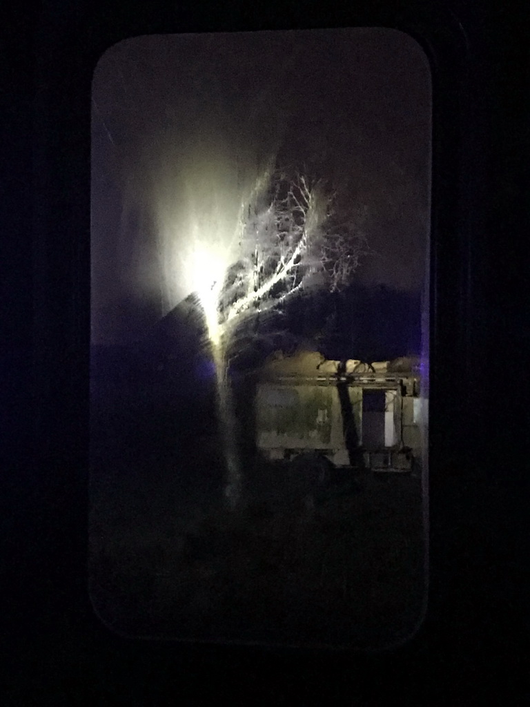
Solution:
[[[146,638],[365,648],[416,629],[418,477],[350,469],[315,490],[260,462],[229,511],[218,460],[204,439],[180,467],[169,450],[131,451],[93,474],[90,595],[105,624]]]

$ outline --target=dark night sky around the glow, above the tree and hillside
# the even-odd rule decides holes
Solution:
[[[187,190],[205,204],[213,194],[228,223],[240,185],[275,153],[367,206],[379,255],[360,283],[419,290],[430,103],[427,59],[394,30],[155,35],[108,49],[93,81],[93,342],[134,338],[189,293],[182,262],[160,293],[173,252],[157,240],[160,211],[175,247]]]

